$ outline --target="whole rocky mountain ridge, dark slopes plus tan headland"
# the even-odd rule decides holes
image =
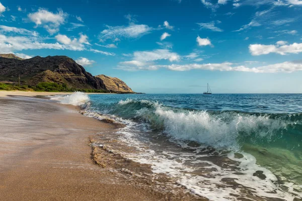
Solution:
[[[106,75],[92,76],[67,56],[36,56],[19,60],[13,54],[0,57],[0,80],[18,81],[35,86],[40,82],[65,83],[69,88],[133,92],[122,80]],[[104,80],[102,79],[104,78]],[[105,82],[107,84],[105,84]]]

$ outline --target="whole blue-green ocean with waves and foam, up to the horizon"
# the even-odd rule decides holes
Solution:
[[[123,153],[210,200],[302,198],[302,94],[53,97],[126,125]],[[245,199],[241,199],[245,198]]]

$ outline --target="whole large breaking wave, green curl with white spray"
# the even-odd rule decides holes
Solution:
[[[294,146],[284,139],[296,127],[301,130],[302,113],[263,114],[236,111],[200,111],[166,107],[149,100],[120,100],[117,104],[95,105],[93,110],[148,123],[151,129],[171,139],[195,141],[214,148],[240,150],[244,143],[279,142]],[[293,136],[291,136],[293,137]],[[301,135],[294,136],[302,138]],[[291,140],[292,141],[292,140]],[[296,142],[291,142],[297,144]],[[290,145],[289,145],[290,144]]]

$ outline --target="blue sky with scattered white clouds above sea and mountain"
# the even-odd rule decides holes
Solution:
[[[302,0],[0,0],[0,53],[146,93],[302,93]]]

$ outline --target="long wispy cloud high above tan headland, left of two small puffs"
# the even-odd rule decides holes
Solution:
[[[149,32],[153,31],[152,27],[147,25],[129,25],[111,27],[106,25],[107,29],[103,30],[100,35],[100,40],[115,40],[116,38],[139,38]]]

